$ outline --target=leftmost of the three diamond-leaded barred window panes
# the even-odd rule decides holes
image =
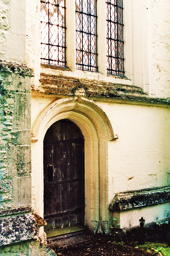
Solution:
[[[66,66],[65,0],[41,0],[41,62]]]

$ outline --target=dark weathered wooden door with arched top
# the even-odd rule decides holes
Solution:
[[[45,230],[84,225],[84,138],[63,119],[44,137]]]

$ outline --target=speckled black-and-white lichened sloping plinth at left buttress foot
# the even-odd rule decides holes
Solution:
[[[37,239],[37,234],[38,229],[31,207],[1,212],[0,246]]]

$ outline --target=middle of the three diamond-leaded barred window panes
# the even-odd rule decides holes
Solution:
[[[97,71],[96,0],[76,0],[76,68]]]

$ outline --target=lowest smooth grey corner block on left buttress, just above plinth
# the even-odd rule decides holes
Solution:
[[[17,177],[13,180],[13,202],[15,207],[31,205],[31,177]]]

